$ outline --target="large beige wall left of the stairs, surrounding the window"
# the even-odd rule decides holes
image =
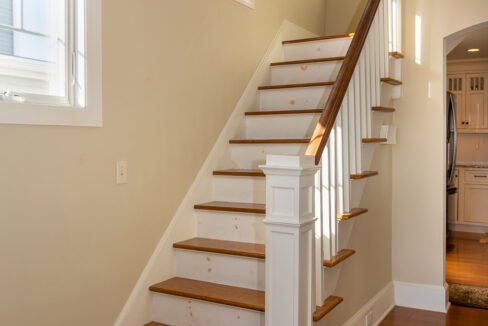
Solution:
[[[104,0],[104,127],[0,125],[1,325],[113,324],[280,23],[323,33],[256,2]]]

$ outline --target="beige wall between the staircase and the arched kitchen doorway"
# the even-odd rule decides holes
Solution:
[[[404,94],[393,147],[393,277],[444,283],[444,38],[488,20],[486,0],[407,0]],[[422,18],[421,64],[415,63],[415,16]]]

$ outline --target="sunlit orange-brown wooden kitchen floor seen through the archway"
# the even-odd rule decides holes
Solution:
[[[447,283],[488,287],[488,244],[480,235],[456,233],[446,255]],[[488,324],[487,324],[488,325]]]

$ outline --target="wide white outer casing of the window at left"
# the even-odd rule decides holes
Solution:
[[[0,101],[0,124],[102,126],[102,5],[85,0],[86,105]]]

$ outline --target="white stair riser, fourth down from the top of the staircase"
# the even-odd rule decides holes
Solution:
[[[319,118],[320,114],[249,116],[246,118],[246,138],[310,138]]]

